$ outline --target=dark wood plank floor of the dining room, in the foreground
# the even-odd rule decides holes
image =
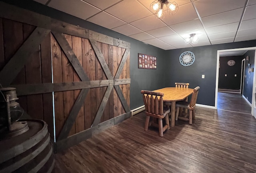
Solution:
[[[256,119],[196,107],[192,125],[178,120],[158,136],[145,113],[55,155],[53,173],[255,173]]]

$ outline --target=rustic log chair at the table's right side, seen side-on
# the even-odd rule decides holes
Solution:
[[[196,117],[195,117],[195,107],[196,107],[196,99],[197,99],[199,89],[200,89],[199,86],[194,88],[194,91],[193,91],[190,102],[188,102],[188,101],[177,101],[176,102],[176,120],[178,120],[178,118],[179,118],[179,119],[189,121],[189,124],[192,124],[192,119],[196,119]],[[189,117],[188,118],[179,116],[180,107],[184,107],[184,108],[189,110]]]

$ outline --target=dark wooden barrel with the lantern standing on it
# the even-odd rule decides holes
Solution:
[[[52,143],[47,125],[38,119],[23,119],[29,130],[0,141],[0,173],[51,173]]]

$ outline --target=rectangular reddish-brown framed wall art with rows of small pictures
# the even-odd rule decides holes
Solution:
[[[138,53],[138,68],[156,69],[156,57]]]

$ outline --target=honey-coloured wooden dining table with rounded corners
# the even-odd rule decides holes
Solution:
[[[193,93],[192,88],[181,88],[181,87],[166,87],[162,89],[154,90],[155,92],[164,93],[163,100],[171,105],[171,127],[175,126],[175,111],[176,111],[176,101],[181,101],[186,99],[189,95]]]

